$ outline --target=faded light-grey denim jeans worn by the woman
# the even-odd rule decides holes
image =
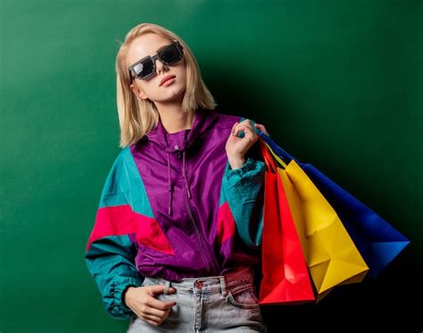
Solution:
[[[251,267],[220,276],[164,280],[146,277],[143,286],[164,285],[157,295],[162,301],[175,301],[168,317],[153,326],[137,315],[129,320],[127,333],[141,332],[265,332]],[[176,293],[168,294],[170,287]]]

